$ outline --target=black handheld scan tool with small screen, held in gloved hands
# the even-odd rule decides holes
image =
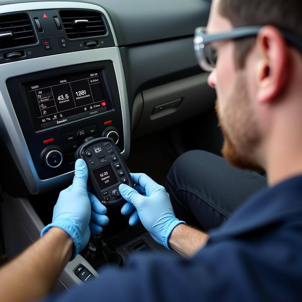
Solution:
[[[88,185],[102,204],[113,207],[125,201],[119,185],[124,183],[133,188],[134,184],[114,140],[107,137],[89,140],[77,149],[75,159],[80,158],[88,168]]]

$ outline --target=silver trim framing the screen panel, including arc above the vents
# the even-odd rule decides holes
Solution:
[[[108,20],[114,41],[117,45],[116,37],[108,14],[103,8],[97,5],[81,2],[30,2],[2,5],[1,13],[52,8],[85,8],[101,11]],[[62,186],[65,183],[67,184],[68,182],[71,182],[74,171],[46,180],[41,180],[39,178],[21,131],[20,124],[14,112],[14,108],[6,87],[6,80],[11,77],[32,72],[81,63],[98,62],[102,60],[110,60],[114,65],[120,95],[124,128],[124,150],[121,154],[124,159],[127,159],[130,152],[130,114],[124,69],[118,47],[82,50],[72,53],[63,53],[23,61],[9,62],[0,65],[0,130],[11,156],[13,157],[14,162],[17,165],[17,168],[19,169],[19,172],[28,188],[28,191],[31,194],[49,191],[56,187]]]

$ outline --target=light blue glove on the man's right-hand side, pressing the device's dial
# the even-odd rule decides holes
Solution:
[[[172,230],[180,223],[175,217],[169,194],[165,188],[154,182],[149,176],[141,173],[130,173],[135,189],[128,185],[119,186],[120,194],[128,201],[121,209],[121,213],[130,216],[129,224],[135,225],[140,219],[143,226],[155,241],[170,249],[168,244]]]

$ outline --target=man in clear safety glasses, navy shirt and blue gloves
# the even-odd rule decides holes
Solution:
[[[131,224],[139,218],[157,242],[189,257],[137,255],[124,268],[103,268],[99,278],[46,301],[302,299],[301,11],[300,0],[213,0],[207,29],[194,39],[217,91],[224,156],[242,168],[264,169],[268,188],[207,235],[175,217],[164,187],[133,174],[137,191],[120,185],[123,213],[133,211]],[[182,190],[191,188],[177,174],[174,179],[173,198],[188,210],[194,203],[181,200]],[[78,160],[73,185],[60,194],[42,238],[0,270],[3,300],[47,294],[87,243],[89,219],[96,231],[108,222],[86,183],[87,168]]]

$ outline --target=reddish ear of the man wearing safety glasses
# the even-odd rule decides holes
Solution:
[[[259,55],[256,99],[267,103],[281,92],[288,79],[287,44],[276,27],[264,26],[258,33],[256,49]]]

